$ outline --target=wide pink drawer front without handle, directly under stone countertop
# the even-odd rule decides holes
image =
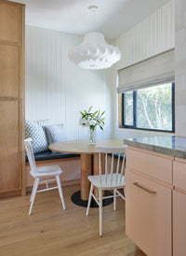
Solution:
[[[126,149],[126,168],[137,170],[149,177],[172,184],[173,157],[142,149]]]

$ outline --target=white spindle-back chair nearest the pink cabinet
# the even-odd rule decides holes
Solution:
[[[125,197],[125,188],[126,188],[126,181],[125,181],[125,150],[126,146],[123,148],[105,148],[105,147],[98,147],[99,150],[99,175],[95,176],[89,176],[88,179],[91,183],[90,186],[90,192],[89,192],[89,198],[88,198],[88,204],[86,208],[86,216],[88,216],[89,213],[89,207],[91,204],[92,197],[98,204],[100,208],[100,236],[102,236],[102,200],[106,198],[112,198],[113,197],[113,210],[116,210],[116,197],[120,196],[124,200],[126,200]],[[105,166],[104,170],[101,170],[101,154],[105,154]],[[114,168],[114,155],[117,155],[117,164],[116,168]],[[111,162],[111,168],[108,168],[108,157],[112,158]],[[121,159],[122,164],[120,163]],[[97,187],[99,189],[99,198],[96,198],[93,190],[94,187]],[[118,189],[124,190],[124,195],[118,191]],[[109,196],[102,196],[103,191],[112,191],[113,195]]]

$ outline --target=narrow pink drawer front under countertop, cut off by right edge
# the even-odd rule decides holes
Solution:
[[[186,191],[186,161],[185,163],[173,162],[173,185]]]

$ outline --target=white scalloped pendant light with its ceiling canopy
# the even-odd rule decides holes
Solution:
[[[89,7],[94,13],[97,8]],[[75,46],[69,51],[68,58],[74,64],[86,69],[102,69],[118,62],[121,53],[117,47],[109,45],[102,34],[90,32],[84,36],[84,40],[79,46]]]

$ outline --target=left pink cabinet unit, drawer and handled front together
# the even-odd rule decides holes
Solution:
[[[126,235],[150,256],[172,256],[173,160],[126,149]]]

